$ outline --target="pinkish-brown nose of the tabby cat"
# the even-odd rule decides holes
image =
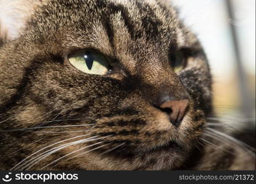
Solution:
[[[159,109],[161,109],[163,112],[166,112],[169,115],[170,123],[172,123],[172,125],[178,127],[183,120],[188,105],[188,99],[174,101],[170,100],[162,102],[162,104],[159,105]]]

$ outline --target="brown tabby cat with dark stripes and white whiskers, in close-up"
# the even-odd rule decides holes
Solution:
[[[171,2],[1,4],[1,170],[255,169],[207,125],[207,56]]]

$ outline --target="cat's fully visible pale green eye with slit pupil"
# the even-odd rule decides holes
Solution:
[[[98,52],[80,50],[70,55],[68,60],[79,71],[87,74],[105,75],[110,70],[108,59]]]

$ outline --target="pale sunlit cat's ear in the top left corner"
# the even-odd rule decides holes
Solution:
[[[0,42],[14,40],[20,36],[26,20],[34,12],[39,1],[0,0]],[[0,43],[1,44],[1,43]]]

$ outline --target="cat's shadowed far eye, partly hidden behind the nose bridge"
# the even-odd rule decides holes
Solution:
[[[185,67],[185,56],[183,55],[182,51],[177,51],[172,54],[170,58],[172,69],[175,72],[180,72]]]

